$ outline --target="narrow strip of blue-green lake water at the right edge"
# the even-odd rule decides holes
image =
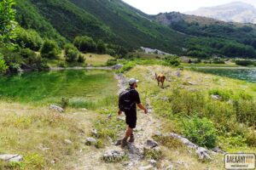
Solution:
[[[221,77],[236,78],[247,82],[256,82],[256,68],[196,68],[196,71],[210,73]]]

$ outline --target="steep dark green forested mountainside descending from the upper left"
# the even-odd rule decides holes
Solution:
[[[19,0],[20,25],[67,41],[86,35],[125,48],[159,48],[180,54],[186,37],[149,20],[147,14],[121,0]],[[48,29],[49,28],[49,29]],[[44,32],[44,33],[42,33]]]

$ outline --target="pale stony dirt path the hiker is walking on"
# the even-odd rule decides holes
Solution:
[[[119,92],[127,87],[125,77],[122,75],[116,75],[119,81]],[[147,99],[147,107],[149,114],[145,115],[143,111],[137,113],[137,128],[135,129],[135,143],[129,144],[126,149],[121,149],[120,146],[109,145],[103,149],[88,148],[87,152],[82,151],[79,154],[79,159],[72,166],[75,170],[113,170],[113,169],[138,169],[139,167],[148,166],[147,160],[143,160],[143,148],[146,145],[148,139],[151,139],[152,135],[160,130],[160,121],[154,117],[154,111],[150,106],[150,102]],[[119,118],[125,119],[122,115]],[[124,122],[125,123],[125,122]],[[123,138],[125,132],[119,132],[119,138]],[[87,147],[87,146],[86,146]],[[86,150],[86,149],[85,149]],[[102,161],[102,155],[106,150],[122,150],[128,157],[127,160],[118,163],[105,163]]]

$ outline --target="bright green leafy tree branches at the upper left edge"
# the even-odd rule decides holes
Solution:
[[[15,10],[14,0],[2,0],[0,2],[0,46],[8,45],[15,37]]]

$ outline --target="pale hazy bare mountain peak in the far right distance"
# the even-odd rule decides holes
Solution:
[[[251,4],[234,2],[210,8],[199,8],[185,14],[205,16],[227,22],[256,24],[256,8]]]

